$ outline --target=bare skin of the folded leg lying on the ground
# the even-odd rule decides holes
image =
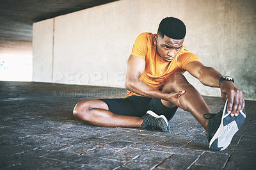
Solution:
[[[142,118],[124,116],[108,111],[102,100],[84,100],[76,104],[74,116],[99,127],[141,127]]]

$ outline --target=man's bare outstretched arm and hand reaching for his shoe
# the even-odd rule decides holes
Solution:
[[[222,100],[228,99],[227,111],[231,116],[238,116],[239,111],[244,109],[243,92],[232,81],[221,81],[219,85],[222,75],[214,68],[204,66],[199,61],[192,61],[185,66],[185,69],[205,86],[220,87]]]

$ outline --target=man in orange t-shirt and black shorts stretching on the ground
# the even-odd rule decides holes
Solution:
[[[169,121],[178,107],[189,111],[207,132],[210,150],[225,150],[245,119],[243,93],[232,77],[200,63],[183,45],[186,26],[167,17],[157,34],[136,38],[128,60],[125,98],[87,100],[74,116],[100,127],[141,127],[170,132]],[[198,91],[182,73],[188,71],[206,86],[221,89],[223,109],[211,114]]]

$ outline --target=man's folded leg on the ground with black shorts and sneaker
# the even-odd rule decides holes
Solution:
[[[150,100],[143,97],[87,100],[79,102],[73,114],[87,123],[100,127],[141,127],[170,132],[170,124],[163,115],[147,112]]]

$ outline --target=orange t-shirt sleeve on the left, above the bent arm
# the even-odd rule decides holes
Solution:
[[[148,38],[146,33],[140,34],[132,47],[132,56],[136,56],[139,58],[146,58],[147,55],[147,49],[148,49]]]

